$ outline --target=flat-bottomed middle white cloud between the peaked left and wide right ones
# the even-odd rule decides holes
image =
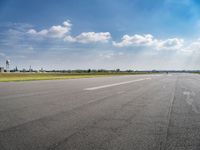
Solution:
[[[95,43],[102,42],[106,43],[111,39],[111,34],[109,32],[83,32],[76,37],[66,36],[65,41],[69,42],[79,42],[79,43]]]

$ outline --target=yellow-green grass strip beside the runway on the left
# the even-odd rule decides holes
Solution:
[[[94,78],[141,73],[0,73],[0,82]]]

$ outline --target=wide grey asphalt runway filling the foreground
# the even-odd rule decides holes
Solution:
[[[200,75],[0,83],[0,150],[199,150]]]

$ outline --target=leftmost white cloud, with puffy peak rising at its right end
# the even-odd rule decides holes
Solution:
[[[36,31],[35,29],[28,30],[28,34],[35,36],[44,36],[52,38],[63,38],[71,30],[72,24],[69,20],[64,21],[62,25],[52,26],[49,29],[43,29],[41,31]]]

